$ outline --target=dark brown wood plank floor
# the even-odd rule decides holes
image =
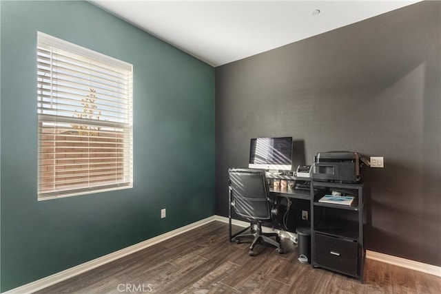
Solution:
[[[37,293],[441,293],[441,277],[366,260],[365,284],[311,269],[296,246],[229,243],[228,226],[210,222]]]

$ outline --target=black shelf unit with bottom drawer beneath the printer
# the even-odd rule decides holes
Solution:
[[[352,204],[318,202],[339,191]],[[311,266],[336,271],[363,282],[366,249],[363,240],[365,183],[311,181]]]

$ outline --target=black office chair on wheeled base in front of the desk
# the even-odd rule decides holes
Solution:
[[[229,169],[229,209],[230,209],[230,242],[240,243],[245,239],[252,239],[249,246],[249,255],[254,256],[254,246],[263,241],[277,247],[278,253],[283,253],[280,245],[280,237],[277,233],[263,233],[262,224],[271,222],[274,224],[274,216],[277,215],[276,201],[269,196],[269,187],[265,178],[265,171],[258,169]],[[250,226],[231,235],[231,208],[239,216],[243,216],[250,222]],[[249,234],[242,234],[250,230]],[[276,240],[270,237],[276,237]]]

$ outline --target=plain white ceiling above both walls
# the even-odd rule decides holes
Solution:
[[[418,1],[91,2],[216,67]]]

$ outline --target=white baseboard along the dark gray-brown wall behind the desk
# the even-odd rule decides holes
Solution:
[[[218,220],[220,222],[228,222],[228,218],[225,218],[224,216],[214,216],[215,220]],[[232,220],[232,224],[235,224],[239,227],[247,227],[249,226],[248,222],[243,222],[242,220]],[[268,228],[267,228],[268,229]],[[288,233],[288,232],[283,232]],[[289,234],[289,233],[288,233]],[[396,266],[401,266],[406,269],[413,269],[414,271],[421,271],[422,273],[429,273],[431,275],[436,275],[438,277],[441,277],[441,267],[440,266],[434,266],[431,264],[424,264],[422,262],[416,262],[413,260],[406,260],[404,258],[398,258],[393,255],[387,255],[384,253],[378,253],[375,251],[366,251],[366,258],[369,258],[371,260],[378,260],[380,262],[385,262],[387,264],[394,264]]]

